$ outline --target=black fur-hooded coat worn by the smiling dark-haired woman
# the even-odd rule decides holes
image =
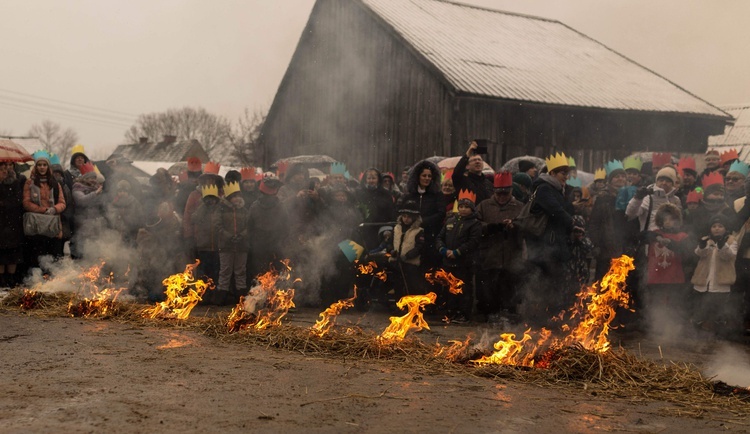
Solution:
[[[419,176],[429,169],[432,172],[432,181],[425,189],[419,188]],[[425,232],[425,245],[427,249],[435,246],[435,237],[440,233],[445,220],[445,197],[440,187],[440,169],[436,164],[422,160],[411,169],[406,182],[406,193],[401,196],[400,203],[414,201],[419,206],[419,215],[422,218],[422,228]]]

